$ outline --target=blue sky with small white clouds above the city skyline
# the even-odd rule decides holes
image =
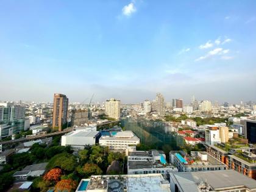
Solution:
[[[0,0],[0,100],[256,100],[256,1]]]

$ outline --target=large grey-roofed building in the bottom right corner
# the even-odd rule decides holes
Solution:
[[[256,182],[233,170],[205,172],[173,172],[170,174],[173,192],[191,191],[256,191]]]

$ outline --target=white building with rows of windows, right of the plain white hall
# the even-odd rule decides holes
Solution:
[[[140,144],[138,138],[132,131],[118,132],[116,135],[106,135],[99,138],[101,146],[108,146],[110,150],[126,151],[127,146]]]

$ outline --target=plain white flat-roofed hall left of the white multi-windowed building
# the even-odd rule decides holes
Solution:
[[[73,150],[82,150],[85,146],[98,143],[100,133],[98,131],[76,130],[62,136],[62,146],[71,146]]]

